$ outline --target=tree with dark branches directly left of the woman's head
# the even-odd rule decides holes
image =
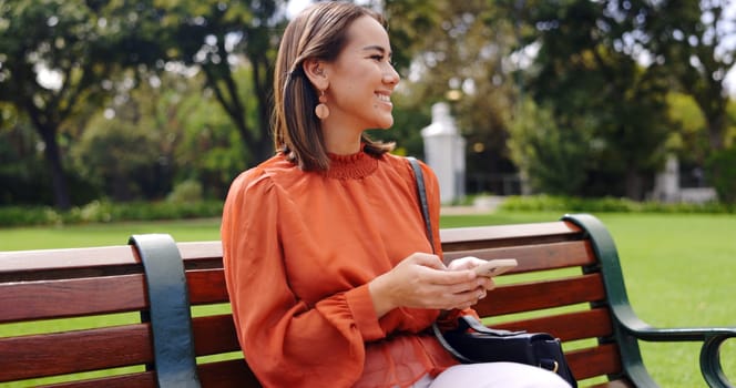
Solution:
[[[273,154],[272,63],[286,23],[285,4],[279,0],[157,2],[159,42],[167,53],[165,60],[204,73],[205,88],[213,91],[243,139],[249,165]],[[249,69],[252,94],[241,94],[236,69],[242,65]]]

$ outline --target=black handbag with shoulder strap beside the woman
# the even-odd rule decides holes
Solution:
[[[425,218],[427,237],[435,251],[435,239],[429,218],[425,177],[416,159],[407,157],[415,173],[417,196]],[[492,329],[473,316],[458,318],[458,327],[442,334],[437,323],[432,324],[435,336],[459,361],[474,363],[519,363],[551,370],[577,387],[568,360],[562,351],[560,339],[546,333],[527,333]]]

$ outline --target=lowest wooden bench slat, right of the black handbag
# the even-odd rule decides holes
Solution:
[[[565,358],[577,380],[621,372],[621,355],[615,344],[568,351]]]

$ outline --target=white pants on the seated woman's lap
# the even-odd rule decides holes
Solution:
[[[456,365],[436,378],[425,376],[413,388],[570,388],[546,369],[515,363]]]

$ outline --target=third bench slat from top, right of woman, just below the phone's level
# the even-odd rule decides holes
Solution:
[[[600,274],[499,286],[473,308],[481,317],[603,300]]]

